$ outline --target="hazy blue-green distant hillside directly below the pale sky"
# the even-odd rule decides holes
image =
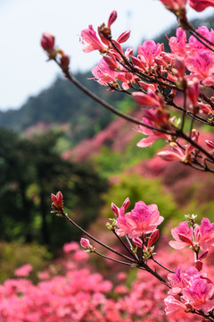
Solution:
[[[115,105],[122,96],[102,88],[95,80],[88,80],[91,73],[78,73],[80,80],[87,88],[109,103]],[[50,124],[69,123],[70,134],[78,142],[91,137],[111,122],[113,115],[95,103],[90,97],[77,89],[68,80],[58,78],[49,89],[43,90],[35,97],[29,97],[19,110],[0,112],[0,126],[13,131],[26,131],[31,126],[41,123],[43,128]]]

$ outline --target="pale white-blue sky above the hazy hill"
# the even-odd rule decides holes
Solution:
[[[112,10],[118,11],[112,26],[114,38],[132,30],[130,47],[141,45],[143,38],[154,38],[176,22],[158,0],[0,0],[0,110],[21,107],[61,73],[53,62],[46,63],[40,47],[44,31],[52,33],[58,47],[70,55],[72,72],[95,66],[100,56],[97,52],[84,54],[79,35],[88,24],[96,30],[107,22]],[[210,13],[213,10],[206,9],[203,15]],[[199,17],[199,13],[189,9],[188,16]]]

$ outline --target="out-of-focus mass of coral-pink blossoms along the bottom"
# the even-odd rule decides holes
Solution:
[[[172,268],[184,263],[183,273],[179,270],[177,275],[185,275],[188,264],[193,264],[190,260],[191,250],[179,253],[172,251],[166,257],[168,250],[164,245],[166,242],[162,241],[157,259]],[[79,250],[76,242],[67,244],[64,250],[66,252],[63,258],[55,267],[51,266],[39,274],[39,283],[32,284],[28,278],[17,278],[8,279],[1,285],[1,322],[201,321],[201,318],[182,311],[177,312],[176,316],[166,317],[163,300],[168,289],[157,279],[148,278],[147,272],[137,271],[131,286],[128,285],[128,279],[132,271],[121,272],[113,286],[110,280],[104,280],[101,274],[93,272],[88,264],[88,255]],[[206,266],[208,275],[213,269],[212,263],[210,264]],[[59,275],[59,271],[63,274]],[[111,273],[109,275],[111,276]],[[172,274],[170,278],[173,280]],[[175,278],[173,284],[172,290],[175,290]],[[186,296],[190,296],[189,293]],[[171,298],[172,295],[169,295],[167,301]]]

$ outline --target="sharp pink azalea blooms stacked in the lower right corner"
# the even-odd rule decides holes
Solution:
[[[186,216],[187,222],[180,223],[172,229],[172,236],[176,242],[169,245],[177,250],[189,246],[195,253],[194,267],[188,267],[185,273],[177,267],[175,274],[169,274],[171,286],[169,296],[164,300],[167,315],[177,313],[179,310],[187,312],[203,311],[206,314],[214,309],[214,285],[203,270],[202,259],[206,258],[210,246],[214,246],[214,224],[210,224],[207,218],[202,219],[201,225],[195,225],[196,216]],[[199,257],[199,251],[202,255]],[[178,301],[177,297],[180,297]]]

